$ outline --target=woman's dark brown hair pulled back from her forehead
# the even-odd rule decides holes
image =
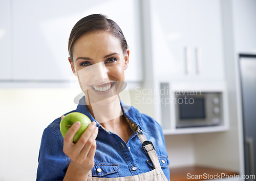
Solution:
[[[92,14],[80,19],[73,27],[69,37],[69,55],[73,61],[73,46],[82,35],[93,31],[109,31],[121,42],[123,52],[128,48],[123,32],[115,21],[108,19],[103,14]]]

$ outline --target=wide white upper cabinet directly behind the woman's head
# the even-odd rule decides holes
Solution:
[[[117,22],[130,47],[126,81],[142,81],[138,1],[13,0],[13,80],[69,81],[68,38],[84,16],[103,13]]]

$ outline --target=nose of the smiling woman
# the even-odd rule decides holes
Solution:
[[[94,76],[92,78],[94,79],[95,83],[102,83],[109,78],[108,69],[106,68],[104,62],[99,62],[92,66],[94,66],[93,67]]]

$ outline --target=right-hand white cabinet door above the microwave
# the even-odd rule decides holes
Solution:
[[[221,2],[219,0],[187,1],[189,46],[192,70],[196,78],[224,78]]]

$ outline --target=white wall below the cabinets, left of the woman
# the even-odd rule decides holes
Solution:
[[[0,89],[0,180],[35,180],[44,129],[76,109],[70,89]]]

